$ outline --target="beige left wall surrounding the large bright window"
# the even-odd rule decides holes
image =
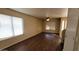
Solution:
[[[24,34],[17,36],[17,37],[13,37],[13,38],[0,41],[0,49],[9,47],[17,42],[23,41],[27,38],[30,38],[42,32],[42,21],[38,18],[25,15],[23,13],[16,12],[11,9],[0,9],[0,13],[11,15],[11,16],[22,17],[24,19],[23,20],[24,21]]]

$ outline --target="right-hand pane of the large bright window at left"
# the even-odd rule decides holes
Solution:
[[[18,17],[13,17],[13,28],[14,35],[23,34],[23,19]]]

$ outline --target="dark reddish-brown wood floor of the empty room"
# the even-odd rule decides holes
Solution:
[[[11,47],[8,51],[61,51],[61,39],[56,34],[40,33]]]

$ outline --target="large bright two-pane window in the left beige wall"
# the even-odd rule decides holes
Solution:
[[[23,19],[0,14],[0,38],[23,34]]]

